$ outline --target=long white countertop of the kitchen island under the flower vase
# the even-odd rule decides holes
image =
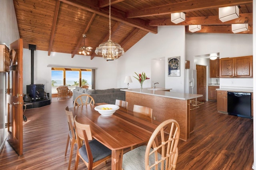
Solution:
[[[140,93],[140,94],[148,94],[153,96],[161,96],[165,98],[173,98],[179,100],[190,100],[194,98],[202,97],[202,94],[188,94],[188,93],[179,93],[179,92],[168,92],[163,90],[148,90],[148,88],[143,88],[143,91],[140,92],[140,88],[134,89],[121,89],[125,92],[133,92],[133,93]],[[168,89],[166,89],[168,90]]]

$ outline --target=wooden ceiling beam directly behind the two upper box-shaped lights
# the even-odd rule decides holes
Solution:
[[[252,13],[240,14],[239,18],[222,22],[219,20],[219,16],[203,16],[203,17],[188,17],[185,21],[175,24],[168,20],[152,20],[149,21],[150,26],[160,26],[160,25],[226,25],[232,23],[249,23],[252,24]]]

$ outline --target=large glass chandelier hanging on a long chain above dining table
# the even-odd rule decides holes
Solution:
[[[102,55],[107,61],[118,59],[124,54],[124,49],[118,44],[111,41],[111,7],[109,0],[109,39],[105,43],[101,43],[99,47],[96,48],[95,53],[97,55]]]

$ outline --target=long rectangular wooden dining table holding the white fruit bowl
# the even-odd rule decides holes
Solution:
[[[102,116],[94,107],[105,103],[70,107],[76,121],[90,125],[92,137],[112,150],[112,170],[122,170],[124,149],[147,143],[160,122],[120,107]]]

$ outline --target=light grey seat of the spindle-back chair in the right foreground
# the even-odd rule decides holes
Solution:
[[[147,146],[140,146],[123,155],[122,169],[123,170],[145,170],[145,152]],[[153,149],[150,149],[150,152]],[[158,158],[161,158],[161,154],[158,153]],[[149,165],[154,164],[154,154],[149,156]],[[158,169],[161,169],[161,164],[158,164]],[[164,162],[165,169],[165,162]]]

